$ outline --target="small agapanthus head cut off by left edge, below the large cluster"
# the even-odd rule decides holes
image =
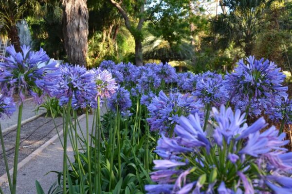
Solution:
[[[0,118],[10,117],[15,111],[16,107],[13,98],[0,94]]]

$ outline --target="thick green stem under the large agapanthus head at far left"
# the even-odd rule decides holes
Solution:
[[[23,102],[21,102],[21,104],[19,105],[19,109],[18,109],[18,121],[17,121],[16,140],[15,140],[15,152],[14,152],[14,164],[13,164],[13,178],[12,178],[12,192],[11,192],[11,194],[16,194],[17,165],[18,165],[18,153],[19,153],[19,140],[20,140],[22,109],[23,109]]]

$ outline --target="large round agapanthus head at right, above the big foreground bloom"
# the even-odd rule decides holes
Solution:
[[[260,111],[273,107],[275,98],[286,94],[288,88],[281,84],[286,76],[269,60],[258,61],[250,56],[246,61],[247,65],[240,60],[235,71],[225,76],[224,84],[231,102],[234,105],[240,100],[247,100],[246,104],[257,103]],[[249,111],[249,114],[254,113]]]

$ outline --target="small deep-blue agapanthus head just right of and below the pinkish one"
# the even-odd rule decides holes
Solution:
[[[126,112],[132,106],[129,91],[119,85],[116,92],[109,98],[108,104],[113,112],[116,112],[117,109]]]

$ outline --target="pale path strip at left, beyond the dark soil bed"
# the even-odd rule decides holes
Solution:
[[[32,116],[35,116],[36,113],[34,112],[36,110],[38,105],[34,103],[33,99],[25,100],[23,103],[23,110],[22,110],[22,121],[25,119],[28,119]],[[45,111],[40,110],[37,114],[44,113]],[[10,118],[5,118],[4,120],[1,120],[1,128],[6,129],[8,127],[11,127],[15,124],[17,124],[18,119],[18,106],[15,113]]]

